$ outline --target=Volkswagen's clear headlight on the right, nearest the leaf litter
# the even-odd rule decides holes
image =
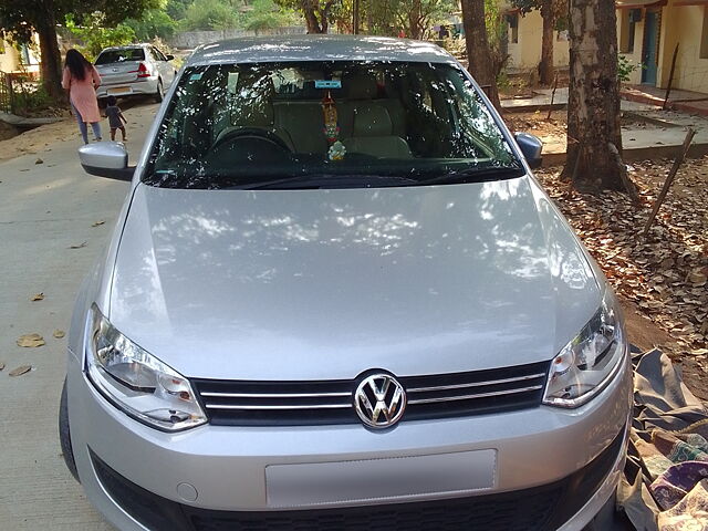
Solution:
[[[551,362],[543,403],[579,407],[604,389],[627,358],[624,323],[607,289],[593,319]]]

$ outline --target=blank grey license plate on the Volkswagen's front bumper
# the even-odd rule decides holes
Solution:
[[[365,500],[405,501],[428,494],[471,493],[496,485],[497,450],[361,461],[270,465],[269,507]]]

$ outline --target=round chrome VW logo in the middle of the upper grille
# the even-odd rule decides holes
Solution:
[[[403,416],[406,392],[393,376],[384,373],[372,374],[356,387],[354,407],[358,418],[366,426],[388,428]]]

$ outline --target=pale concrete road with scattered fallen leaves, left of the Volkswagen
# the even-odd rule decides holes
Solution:
[[[132,160],[156,110],[142,104],[125,112]],[[84,174],[77,147],[72,135],[0,164],[0,529],[8,531],[113,529],[61,458],[56,412],[66,340],[52,334],[66,331],[79,284],[107,243],[128,185]],[[40,292],[44,300],[31,302]],[[17,346],[29,333],[46,344]],[[32,372],[8,375],[25,364]]]

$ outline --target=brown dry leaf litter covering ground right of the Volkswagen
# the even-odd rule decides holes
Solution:
[[[561,168],[537,176],[615,291],[675,341],[662,348],[675,358],[697,357],[708,372],[708,157],[684,163],[647,238],[642,237],[670,166],[670,160],[628,166],[639,208],[617,191],[573,190],[560,179]]]

